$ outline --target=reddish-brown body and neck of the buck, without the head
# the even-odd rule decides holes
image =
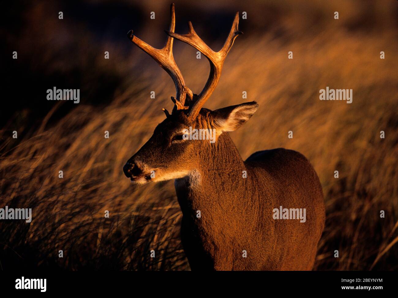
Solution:
[[[244,162],[228,135],[217,144],[199,153],[205,165],[175,180],[191,269],[311,270],[325,211],[310,163],[286,149],[260,151]],[[306,223],[274,220],[279,206],[306,208]]]

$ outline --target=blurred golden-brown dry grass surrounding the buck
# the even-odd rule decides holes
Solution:
[[[295,27],[295,20],[300,22],[287,17],[285,30],[305,27]],[[398,269],[396,31],[365,33],[331,23],[313,34],[277,38],[274,33],[238,37],[206,107],[242,103],[247,91],[247,101],[260,107],[231,134],[242,157],[285,147],[311,161],[327,215],[314,269]],[[287,59],[290,50],[293,60]],[[199,92],[207,61],[196,60],[195,50],[184,45],[176,45],[175,56],[187,85]],[[123,165],[163,120],[160,108],[171,107],[167,98],[174,93],[171,79],[144,53],[135,50],[129,58],[144,67],[123,66],[133,72],[106,106],[83,101],[48,125],[65,105],[55,104],[39,125],[19,131],[26,137],[18,143],[10,137],[14,129],[0,130],[0,207],[33,208],[30,225],[0,223],[0,269],[189,269],[173,182],[135,187],[123,175]],[[121,58],[113,67],[117,62]],[[98,58],[94,67],[112,67],[106,63]],[[320,101],[319,89],[326,86],[353,89],[353,103]],[[155,100],[149,98],[152,90]],[[156,251],[154,260],[150,250]]]

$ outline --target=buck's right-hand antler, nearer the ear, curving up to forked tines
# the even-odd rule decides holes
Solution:
[[[213,93],[217,83],[219,82],[222,66],[224,64],[224,60],[231,49],[232,45],[234,44],[235,38],[243,34],[241,31],[238,30],[238,23],[239,23],[239,12],[236,12],[234,21],[231,26],[231,30],[228,34],[228,37],[222,46],[219,52],[214,52],[208,45],[197,35],[195,30],[193,29],[192,23],[189,21],[189,32],[187,34],[177,34],[172,31],[166,31],[166,33],[174,37],[188,45],[193,46],[200,52],[202,52],[210,63],[210,74],[209,78],[207,79],[206,85],[198,95],[196,101],[192,101],[191,105],[189,106],[189,118],[191,120],[195,119],[199,114],[200,109],[202,108],[203,104],[209,99],[211,94]]]

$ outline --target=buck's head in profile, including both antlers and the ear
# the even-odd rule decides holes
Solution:
[[[166,119],[155,128],[152,137],[123,167],[123,172],[132,182],[144,184],[149,181],[157,182],[186,176],[201,163],[203,156],[199,152],[211,150],[211,146],[214,145],[209,140],[186,139],[186,130],[189,128],[209,132],[212,130],[217,139],[223,132],[230,132],[242,126],[257,110],[256,102],[228,106],[214,111],[202,108],[219,82],[224,60],[235,38],[243,34],[238,30],[238,23],[239,13],[236,12],[230,33],[218,52],[214,52],[203,42],[191,22],[188,23],[187,34],[174,33],[174,4],[171,5],[170,29],[165,31],[168,38],[163,48],[153,48],[133,35],[133,30],[129,31],[129,39],[158,62],[160,67],[172,77],[176,86],[176,97],[171,97],[174,103],[172,113],[162,109]],[[174,38],[193,46],[209,60],[210,75],[199,95],[193,94],[185,85],[174,61],[172,52]]]

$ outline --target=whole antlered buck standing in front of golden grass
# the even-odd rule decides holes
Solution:
[[[314,168],[302,154],[283,148],[258,151],[242,160],[228,132],[252,117],[256,102],[202,108],[219,82],[235,38],[242,34],[238,22],[237,12],[219,52],[203,42],[191,22],[187,34],[174,33],[174,4],[162,49],[129,31],[129,39],[172,77],[176,97],[172,113],[162,109],[166,119],[123,171],[135,184],[175,179],[183,214],[181,242],[192,270],[311,270],[325,221]],[[199,95],[185,85],[173,58],[173,39],[193,46],[210,62],[209,79]],[[183,131],[190,127],[215,129],[216,141],[184,138]],[[273,219],[273,209],[279,206],[305,209],[306,221]]]

